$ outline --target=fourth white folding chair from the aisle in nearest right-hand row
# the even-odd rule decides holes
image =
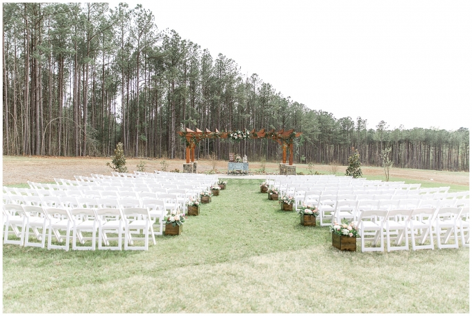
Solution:
[[[436,234],[437,247],[439,249],[459,248],[459,240],[457,239],[457,217],[460,213],[460,208],[438,208],[436,210],[432,227]],[[443,228],[445,229],[443,230]],[[448,244],[447,242],[452,234],[454,235],[454,243]]]

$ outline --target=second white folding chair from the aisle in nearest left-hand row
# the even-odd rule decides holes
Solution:
[[[99,219],[99,249],[121,250],[123,240],[124,220],[119,208],[99,208],[96,210]],[[110,236],[109,234],[116,234]],[[107,235],[108,234],[108,235]],[[103,246],[103,242],[106,246]],[[110,241],[116,240],[117,246],[110,246]]]

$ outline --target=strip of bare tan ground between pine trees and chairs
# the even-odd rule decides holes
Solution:
[[[145,171],[154,172],[162,170],[162,161],[167,164],[167,171],[179,169],[183,171],[185,160],[162,160],[162,159],[138,159],[127,158],[126,167],[128,172],[137,170],[140,161],[146,163]],[[90,176],[90,174],[111,174],[111,169],[106,163],[111,162],[110,158],[92,157],[47,157],[31,156],[16,157],[3,156],[3,185],[33,182],[54,182],[54,178],[74,179],[74,176]],[[199,160],[197,163],[198,172],[210,172],[213,169],[211,160]],[[228,162],[219,160],[215,169],[219,174],[226,174]],[[253,172],[260,170],[260,163],[249,163],[249,169]],[[307,165],[296,165],[297,172],[308,174]],[[330,174],[332,166],[315,165],[314,170],[323,174]],[[337,172],[344,172],[346,166],[337,167]],[[267,163],[266,171],[278,174],[277,163]],[[383,169],[380,167],[362,167],[362,173],[366,176],[383,176]],[[431,181],[438,183],[450,183],[457,185],[469,185],[469,172],[441,172],[435,170],[421,169],[391,169],[390,176],[394,178],[409,178],[418,181]]]

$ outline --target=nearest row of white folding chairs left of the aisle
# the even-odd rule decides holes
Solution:
[[[7,219],[7,224],[4,233],[3,242],[20,244],[24,246],[42,247],[44,248],[46,231],[49,228],[48,234],[48,245],[47,249],[65,249],[69,250],[69,239],[72,230],[73,241],[72,249],[95,249],[96,244],[96,230],[99,230],[99,249],[119,249],[121,250],[121,234],[125,236],[125,250],[127,249],[148,249],[149,244],[149,231],[151,231],[151,238],[155,244],[155,238],[153,233],[153,225],[151,222],[151,215],[146,208],[73,208],[67,210],[66,208],[42,208],[40,206],[18,206],[15,204],[6,204],[3,206],[3,212],[6,213],[8,218],[11,217],[11,221]],[[106,219],[105,217],[110,217]],[[93,218],[91,220],[91,218]],[[118,226],[117,226],[118,224]],[[9,240],[9,227],[15,227],[13,232],[20,240]],[[21,227],[21,231],[18,229]],[[33,233],[30,233],[30,229]],[[40,233],[38,229],[42,229]],[[106,235],[110,233],[112,229],[113,233],[118,233],[117,238],[119,245],[118,247],[105,247],[103,242],[109,246],[109,240]],[[132,234],[137,232],[140,233],[140,229],[143,230],[145,237],[137,238],[133,237]],[[64,235],[60,231],[66,231]],[[83,231],[91,231],[92,238],[85,238],[82,234]],[[65,244],[56,245],[52,244],[53,238],[52,233],[55,235],[57,242],[62,243],[65,239]],[[18,236],[19,235],[19,236]],[[35,235],[37,240],[40,242],[30,242],[30,235]],[[85,243],[85,240],[92,240],[92,246],[80,247],[76,244],[76,240],[79,240],[81,244]],[[133,247],[133,240],[143,240],[144,247]]]

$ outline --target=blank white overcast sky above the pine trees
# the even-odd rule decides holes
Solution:
[[[128,1],[276,91],[367,127],[471,126],[472,1]],[[117,2],[110,3],[112,7]],[[205,126],[202,126],[203,128]]]

